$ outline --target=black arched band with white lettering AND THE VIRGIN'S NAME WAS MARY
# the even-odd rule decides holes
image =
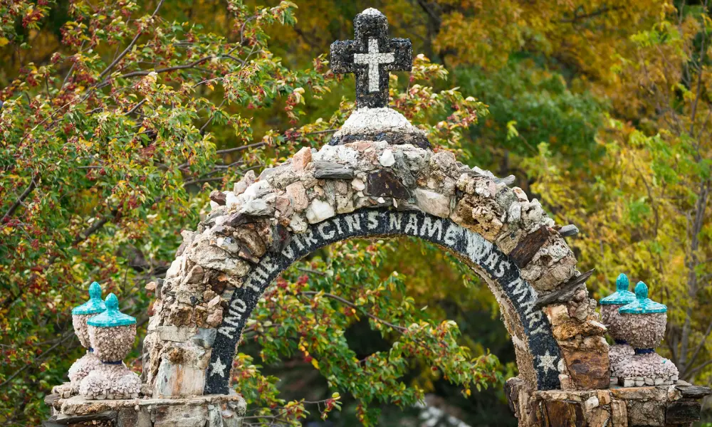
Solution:
[[[559,349],[548,320],[541,310],[535,310],[536,291],[520,275],[515,262],[478,233],[462,228],[449,219],[415,211],[361,209],[313,224],[301,234],[286,241],[282,251],[268,253],[246,276],[241,288],[233,292],[221,325],[207,371],[205,394],[226,394],[229,370],[223,367],[234,359],[239,337],[261,295],[292,263],[330,243],[347,238],[384,236],[414,236],[436,243],[454,253],[481,275],[496,295],[499,305],[508,305],[505,317],[521,325],[525,345],[532,359],[520,356],[523,373],[535,374],[539,389],[554,389],[559,385],[557,362]],[[511,310],[513,309],[513,310]],[[511,329],[511,325],[508,326]]]

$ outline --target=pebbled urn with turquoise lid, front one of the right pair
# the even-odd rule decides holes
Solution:
[[[667,307],[648,297],[648,287],[638,282],[635,300],[618,310],[622,320],[621,337],[634,349],[634,355],[620,369],[623,386],[670,385],[678,379],[678,370],[669,359],[655,352],[665,337]]]

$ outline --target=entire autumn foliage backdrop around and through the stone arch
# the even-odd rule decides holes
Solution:
[[[145,325],[143,285],[163,275],[209,191],[320,147],[353,109],[353,79],[330,73],[325,52],[352,38],[358,5],[269,4],[0,2],[2,423],[46,416],[42,396],[80,354],[68,313],[92,280]],[[670,307],[661,351],[685,379],[709,384],[705,6],[372,6],[389,16],[392,36],[411,37],[416,53],[439,62],[419,56],[410,78],[392,75],[392,105],[436,149],[515,174],[558,223],[575,223],[570,245],[580,270],[597,269],[594,296],[622,271],[648,283]],[[424,393],[461,413],[502,404],[501,391],[466,399],[444,385],[447,377],[473,391],[515,374],[491,293],[439,249],[397,244],[407,250],[334,246],[270,291],[235,361],[255,411],[248,421],[335,419],[341,407],[344,420],[392,423],[386,403],[406,408]],[[419,347],[440,337],[446,347]],[[288,389],[295,367],[318,372],[310,384],[320,386],[305,387],[313,399]]]

